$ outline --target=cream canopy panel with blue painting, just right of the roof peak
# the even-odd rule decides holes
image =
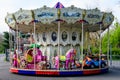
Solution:
[[[76,21],[83,19],[84,10],[76,8],[74,6],[61,9],[61,19],[67,23],[75,23]]]

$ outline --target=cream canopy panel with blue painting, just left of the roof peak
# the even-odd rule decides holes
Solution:
[[[42,7],[39,9],[33,10],[35,20],[40,21],[41,23],[48,23],[50,24],[52,21],[57,19],[57,9],[49,8],[49,7]]]

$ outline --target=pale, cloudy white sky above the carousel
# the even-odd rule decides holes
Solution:
[[[14,13],[20,8],[36,9],[43,7],[54,7],[57,2],[61,2],[65,7],[74,5],[82,9],[99,8],[101,11],[112,12],[120,22],[120,0],[0,0],[0,33],[9,31],[5,23],[7,13]]]

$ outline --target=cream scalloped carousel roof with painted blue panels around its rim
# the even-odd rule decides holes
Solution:
[[[79,27],[81,28],[82,21],[84,22],[84,29],[90,32],[108,28],[114,20],[112,13],[101,12],[96,9],[80,9],[74,6],[61,8],[60,18],[58,17],[58,9],[50,7],[41,7],[34,10],[20,9],[15,13],[7,14],[5,22],[8,26],[22,32],[31,32],[33,30],[34,22],[36,30],[39,32],[46,27],[57,27],[57,22],[61,21],[62,27]]]

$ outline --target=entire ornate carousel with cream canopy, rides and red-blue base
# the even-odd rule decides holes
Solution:
[[[89,35],[85,36],[89,32],[99,31],[101,42],[101,31],[108,29],[109,33],[109,26],[113,20],[112,13],[101,12],[97,8],[85,10],[73,5],[64,7],[60,2],[53,8],[21,8],[15,13],[8,13],[5,22],[16,35],[16,45],[12,47],[14,51],[10,72],[43,76],[76,76],[108,72],[109,50],[106,57],[103,57],[100,43],[100,50],[94,55],[89,47],[90,41],[87,40]],[[21,41],[21,32],[30,34],[26,40],[28,43]]]

